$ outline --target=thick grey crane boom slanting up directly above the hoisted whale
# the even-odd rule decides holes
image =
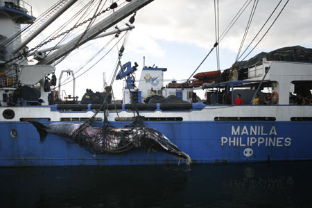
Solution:
[[[125,17],[128,17],[133,12],[136,12],[140,8],[143,8],[152,1],[154,0],[130,1],[122,8],[112,13],[112,15],[109,15],[109,17],[106,17],[105,19],[99,21],[98,24],[89,28],[89,30],[87,31],[87,33],[85,33],[85,35],[81,40],[80,40],[81,35],[78,35],[76,38],[74,38],[67,44],[64,44],[62,47],[60,47],[60,49],[56,50],[54,53],[51,53],[50,55],[46,56],[46,58],[41,60],[39,64],[52,64],[53,62],[55,62],[55,60],[62,58],[64,55],[67,55],[74,49],[78,48],[80,45],[85,44],[85,42],[92,40],[94,37],[96,37],[96,35],[103,33],[103,31],[107,30],[107,28],[114,26],[114,24],[118,23],[122,19],[125,19]],[[78,40],[80,41],[78,42]]]

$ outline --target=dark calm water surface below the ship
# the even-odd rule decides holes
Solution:
[[[0,207],[312,207],[312,162],[0,168]]]

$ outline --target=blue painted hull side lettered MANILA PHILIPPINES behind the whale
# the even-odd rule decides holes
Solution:
[[[49,124],[49,123],[44,123]],[[116,127],[121,123],[112,122]],[[96,123],[101,126],[101,123]],[[193,163],[268,162],[312,159],[312,122],[300,121],[157,121],[162,132]],[[132,150],[121,155],[92,155],[72,141],[49,134],[40,144],[33,125],[1,122],[0,166],[76,166],[177,164],[173,155]],[[10,130],[17,130],[17,137]]]

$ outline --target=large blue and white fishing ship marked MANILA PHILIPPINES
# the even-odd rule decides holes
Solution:
[[[107,150],[98,154],[75,139],[68,141],[62,135],[40,132],[40,128],[62,123],[124,129],[137,122],[161,132],[189,155],[193,164],[312,159],[312,49],[302,46],[260,53],[224,71],[196,73],[193,79],[181,82],[166,83],[166,68],[146,66],[139,80],[135,80],[132,73],[138,64],[119,62],[116,68],[119,72],[116,70],[115,76],[117,80],[124,80],[122,102],[110,96],[111,86],[105,87],[105,92],[94,93],[87,89],[81,101],[75,93],[62,100],[60,93],[51,89],[57,85],[55,62],[62,61],[89,40],[112,34],[118,36],[134,28],[136,12],[150,2],[152,0],[125,1],[120,8],[112,3],[97,13],[100,16],[114,10],[109,17],[66,44],[53,49],[41,49],[43,44],[28,49],[26,45],[76,1],[58,2],[41,21],[33,17],[31,6],[24,1],[0,1],[0,166],[179,162],[171,154],[146,148],[121,153]],[[128,28],[116,28],[105,34],[108,28],[126,17],[130,17]],[[92,18],[82,22],[90,21]],[[23,41],[21,33],[28,27],[21,29],[21,24],[37,25]],[[122,53],[123,49],[119,55]],[[37,64],[28,64],[29,55]],[[60,79],[59,86],[54,88],[58,92]],[[196,96],[197,89],[205,90],[204,101]],[[243,105],[234,105],[236,97],[241,97]],[[259,103],[252,105],[257,97]]]

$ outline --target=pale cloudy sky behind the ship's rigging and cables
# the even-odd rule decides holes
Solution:
[[[250,5],[243,12],[243,15],[220,42],[220,69],[229,68],[235,61],[254,3],[254,0],[250,1]],[[248,46],[279,1],[259,0],[243,49]],[[57,1],[27,0],[27,2],[33,6],[33,15],[38,17]],[[78,8],[84,6],[87,2],[87,0],[78,0],[76,6],[74,5],[63,17],[55,21],[50,28],[47,28],[42,35],[31,42],[31,46],[35,46],[42,38],[49,35],[51,31],[55,31],[55,28],[62,25],[64,19],[68,19],[70,15],[73,15]],[[112,3],[112,0],[107,1],[107,5],[104,8],[109,6],[108,2]],[[121,2],[123,0],[119,1],[119,3]],[[245,2],[246,0],[219,1],[220,33],[225,30]],[[277,12],[268,22],[268,26],[275,19],[284,3],[286,3],[286,0],[281,1]],[[250,53],[249,57],[261,51],[272,51],[284,46],[301,45],[311,48],[311,8],[311,0],[290,0],[274,26],[272,26],[257,48]],[[122,26],[126,21],[128,21],[128,18],[118,25]],[[122,58],[123,63],[128,61],[138,62],[139,69],[141,69],[143,67],[143,57],[145,56],[146,65],[152,66],[155,64],[158,67],[168,68],[168,71],[164,74],[165,79],[187,79],[214,45],[214,0],[155,0],[137,12],[135,27],[130,32]],[[267,28],[263,29],[259,37],[262,37]],[[80,33],[80,31],[78,29],[76,34]],[[75,36],[76,34],[73,33],[72,35]],[[256,42],[259,40],[259,37],[256,39]],[[67,59],[57,65],[57,75],[61,70],[74,70],[81,64],[88,62],[89,58],[105,46],[111,38],[101,38],[80,46],[79,51],[73,51]],[[106,51],[104,50],[98,58],[101,58],[114,43],[116,43],[116,40],[107,46]],[[98,58],[95,58],[94,62]],[[101,91],[103,89],[102,74],[105,72],[106,80],[108,81],[114,70],[116,59],[117,49],[113,49],[95,67],[78,78],[76,80],[76,94],[81,98],[86,88],[91,88],[94,92]],[[76,76],[88,68],[87,66],[81,69]],[[211,53],[198,71],[212,70],[216,70],[216,51]],[[137,79],[139,79],[140,72],[141,70],[136,73]],[[67,75],[64,76],[63,80],[66,78]],[[114,81],[113,88],[117,98],[121,98],[121,85],[121,80]],[[66,89],[67,94],[71,94],[71,84],[65,85],[63,89]]]

